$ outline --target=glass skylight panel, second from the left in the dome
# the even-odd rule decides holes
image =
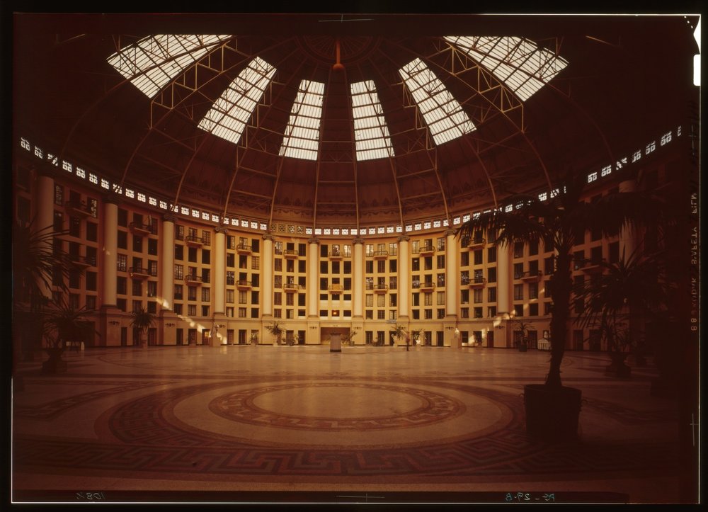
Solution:
[[[275,68],[256,57],[232,81],[221,97],[200,121],[202,130],[217,137],[238,144],[244,127],[248,123],[253,109],[263,98],[265,88],[273,79]]]

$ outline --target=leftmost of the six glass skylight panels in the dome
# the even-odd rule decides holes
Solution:
[[[108,64],[152,98],[175,76],[231,35],[152,35],[121,48]]]

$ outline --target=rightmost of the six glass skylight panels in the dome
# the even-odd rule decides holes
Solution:
[[[559,74],[568,61],[534,42],[511,36],[445,36],[526,101]]]

